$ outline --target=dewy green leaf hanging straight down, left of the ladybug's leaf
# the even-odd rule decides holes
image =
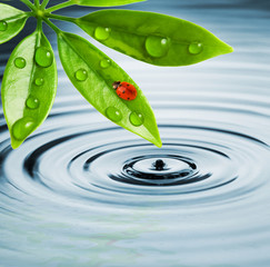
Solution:
[[[11,146],[18,148],[47,118],[57,90],[57,65],[43,33],[34,31],[10,56],[2,81],[2,103]]]

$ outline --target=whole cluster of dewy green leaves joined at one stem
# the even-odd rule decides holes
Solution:
[[[20,0],[31,10],[23,12],[0,3],[0,43],[23,28],[29,17],[37,30],[23,39],[10,56],[1,96],[11,146],[18,148],[47,118],[57,90],[53,51],[42,32],[42,21],[58,34],[59,55],[69,79],[80,93],[114,123],[161,147],[153,111],[136,82],[108,56],[72,33],[62,32],[50,19],[77,23],[91,37],[127,56],[158,66],[184,66],[232,51],[206,29],[164,14],[103,10],[73,19],[53,14],[73,4],[122,6],[142,0],[68,0],[46,9],[49,0]],[[112,83],[126,81],[137,89],[134,100],[121,99]]]

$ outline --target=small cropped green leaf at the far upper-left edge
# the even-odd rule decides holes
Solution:
[[[0,3],[0,43],[16,37],[24,27],[27,19],[26,12]]]

